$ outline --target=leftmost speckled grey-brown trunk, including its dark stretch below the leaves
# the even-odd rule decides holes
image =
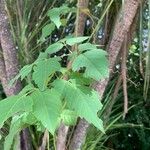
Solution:
[[[22,89],[21,81],[18,80],[11,87],[9,82],[19,73],[19,62],[17,51],[10,31],[9,21],[5,10],[5,1],[0,0],[0,44],[2,55],[0,57],[0,80],[6,96],[18,94]],[[21,149],[31,149],[31,143],[28,140],[29,131],[24,129],[21,132]]]

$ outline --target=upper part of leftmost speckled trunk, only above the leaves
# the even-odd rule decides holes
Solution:
[[[18,74],[19,63],[17,60],[17,52],[15,49],[15,45],[11,37],[4,0],[0,0],[0,43],[2,48],[1,64],[3,63],[1,67],[3,67],[4,71],[3,80],[5,77],[6,78],[5,80],[9,82],[12,78],[14,78]],[[7,96],[17,94],[21,90],[20,81],[17,81],[17,83],[11,87],[8,87],[8,83],[6,82],[3,83],[4,89],[9,88],[9,90],[6,90]]]

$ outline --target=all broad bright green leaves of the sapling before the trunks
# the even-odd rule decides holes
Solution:
[[[48,16],[59,28],[60,15],[69,11],[70,8],[62,6],[51,9]],[[52,24],[43,28],[42,38],[51,34],[52,31],[47,32],[50,27],[54,29]],[[102,120],[97,116],[102,108],[99,95],[88,86],[92,84],[91,79],[99,80],[108,77],[108,62],[106,52],[95,45],[88,42],[79,44],[88,38],[69,36],[51,44],[32,64],[24,66],[11,81],[13,84],[19,78],[23,80],[29,75],[32,78],[32,84],[25,86],[18,95],[0,101],[1,126],[12,117],[10,132],[5,139],[6,150],[11,147],[14,136],[22,128],[30,125],[37,126],[40,123],[54,135],[61,122],[75,125],[77,118],[80,117],[105,132]],[[52,57],[52,54],[63,47],[69,46],[71,49],[74,45],[79,53],[70,57],[72,68],[62,68],[61,57]],[[83,67],[85,69],[82,69]],[[75,76],[74,74],[77,73],[78,76]],[[65,76],[68,76],[68,81],[65,80]],[[81,82],[78,82],[79,78]],[[85,84],[85,79],[89,80],[88,84]]]

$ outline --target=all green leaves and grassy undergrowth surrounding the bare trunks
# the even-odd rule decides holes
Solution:
[[[141,3],[140,18],[135,19],[140,25],[129,49],[127,85],[129,106],[132,109],[125,120],[122,119],[122,88],[112,110],[110,107],[114,88],[106,90],[103,106],[98,101],[97,92],[89,88],[95,80],[108,76],[106,52],[101,48],[105,49],[110,42],[113,25],[120,13],[118,10],[121,3],[125,2],[89,2],[89,9],[82,10],[88,16],[84,31],[86,36],[73,37],[70,35],[76,26],[76,2],[7,0],[13,39],[20,65],[24,66],[10,85],[19,78],[24,86],[29,84],[18,95],[6,99],[0,87],[0,99],[3,99],[0,101],[0,125],[3,126],[0,130],[0,149],[3,149],[3,140],[6,150],[15,145],[19,141],[18,133],[26,127],[29,127],[33,147],[37,149],[45,128],[55,136],[61,121],[72,126],[76,125],[78,117],[85,118],[97,127],[89,128],[83,145],[85,150],[108,147],[129,150],[150,148],[148,2],[145,5]],[[98,46],[86,40],[98,43]],[[72,48],[76,51],[72,51]],[[69,61],[72,66],[66,68]],[[109,86],[116,84],[120,65],[116,68],[117,73]],[[70,128],[68,139],[71,138],[73,129]],[[52,134],[49,142],[50,148],[54,149],[55,137]]]

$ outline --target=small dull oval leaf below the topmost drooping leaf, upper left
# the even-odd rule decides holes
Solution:
[[[55,25],[53,23],[47,24],[42,28],[42,36],[41,36],[41,41],[45,40],[45,38],[55,30]]]

